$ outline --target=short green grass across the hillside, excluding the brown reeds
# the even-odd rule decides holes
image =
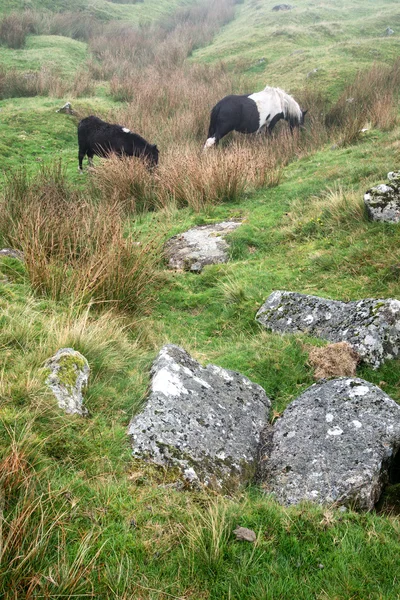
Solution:
[[[99,0],[91,6],[108,16],[141,19],[176,4]],[[302,87],[305,74],[321,67],[309,84],[334,96],[360,65],[390,62],[398,52],[395,2],[382,2],[377,10],[372,1],[355,0],[344,10],[342,2],[300,0],[297,12],[278,14],[272,5],[238,4],[237,19],[194,59],[226,59],[243,85],[289,89]],[[387,25],[396,36],[381,38]],[[296,49],[304,53],[291,56]],[[40,36],[29,37],[23,50],[0,48],[8,68],[37,69],[48,56],[71,76],[86,46]],[[263,56],[267,62],[256,65]],[[73,106],[108,118],[120,105],[105,84],[96,93]],[[61,158],[71,183],[90,194],[89,175],[77,174],[76,119],[56,113],[63,103],[42,97],[0,102],[3,180],[21,163],[35,172]],[[371,130],[346,148],[333,149],[331,140],[285,167],[277,187],[240,202],[199,214],[169,208],[132,220],[143,240],[227,218],[244,221],[230,236],[229,263],[200,275],[161,266],[155,308],[140,318],[34,296],[24,266],[0,260],[0,461],[11,456],[19,467],[9,469],[8,479],[0,469],[6,490],[0,510],[3,533],[11,522],[21,532],[0,554],[2,597],[399,598],[398,517],[311,505],[285,509],[257,487],[233,498],[178,492],[168,486],[175,473],[132,460],[126,436],[162,344],[180,344],[202,364],[213,362],[260,383],[276,416],[312,384],[307,345],[321,342],[280,337],[255,322],[273,290],[339,300],[400,298],[399,229],[370,223],[360,210],[364,191],[397,168],[399,133],[398,127]],[[65,346],[79,350],[91,367],[89,419],[61,413],[43,383],[44,361]],[[357,374],[400,401],[399,367],[400,361],[388,361],[376,371],[360,367]],[[255,545],[234,540],[237,525],[254,529]]]

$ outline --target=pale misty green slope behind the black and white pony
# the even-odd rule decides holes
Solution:
[[[400,14],[396,0],[306,2],[273,12],[273,0],[247,0],[213,43],[198,50],[200,61],[224,60],[244,75],[246,89],[265,85],[296,91],[305,84],[338,94],[356,71],[390,63],[399,55]],[[396,35],[383,37],[386,27]],[[264,59],[260,63],[260,59]],[[318,72],[307,79],[313,69]]]

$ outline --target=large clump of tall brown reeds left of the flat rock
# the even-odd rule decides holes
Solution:
[[[151,305],[157,244],[133,239],[123,207],[70,188],[61,163],[12,175],[0,201],[0,235],[23,251],[33,289],[128,312]]]

